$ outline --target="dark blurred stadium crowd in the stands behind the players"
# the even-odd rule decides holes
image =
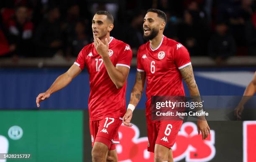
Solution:
[[[256,56],[255,0],[1,0],[0,58],[76,57],[93,42],[91,19],[98,10],[114,16],[111,36],[136,56],[149,8],[168,18],[164,35],[191,56]]]

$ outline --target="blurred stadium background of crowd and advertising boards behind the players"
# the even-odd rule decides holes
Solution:
[[[108,10],[114,17],[110,35],[133,50],[128,104],[137,50],[146,43],[142,24],[149,8],[166,13],[164,35],[187,47],[201,96],[243,95],[256,71],[256,0],[0,0],[0,153],[31,154],[19,161],[90,162],[86,69],[40,109],[36,96],[93,41],[95,12]],[[186,86],[185,92],[189,96]],[[133,127],[120,127],[120,161],[154,161],[146,152],[145,101],[143,94]],[[244,111],[252,112],[246,105]],[[256,161],[255,121],[208,123],[211,136],[206,141],[197,135],[195,122],[183,124],[174,161]],[[12,159],[0,159],[6,161]]]

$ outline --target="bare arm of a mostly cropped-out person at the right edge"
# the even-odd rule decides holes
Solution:
[[[243,97],[235,109],[235,116],[238,120],[241,120],[241,114],[243,112],[243,105],[256,93],[256,72],[254,73],[253,80],[248,84],[246,90],[243,93]]]

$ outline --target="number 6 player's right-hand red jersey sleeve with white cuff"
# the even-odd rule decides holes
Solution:
[[[179,69],[182,69],[188,65],[191,65],[189,52],[182,44],[178,43],[174,47],[174,62]]]

